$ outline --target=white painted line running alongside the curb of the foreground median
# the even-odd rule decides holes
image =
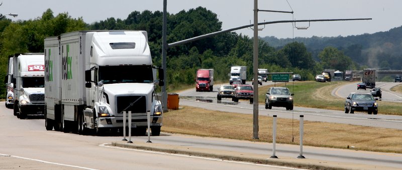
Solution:
[[[99,146],[122,149],[122,150],[134,150],[134,151],[141,151],[141,152],[147,152],[147,153],[157,153],[157,154],[165,154],[165,155],[173,155],[173,156],[181,156],[181,157],[191,157],[191,158],[199,158],[199,159],[207,159],[207,160],[224,161],[224,162],[231,162],[231,163],[250,164],[250,165],[258,165],[258,166],[266,166],[266,167],[286,168],[286,169],[300,169],[300,168],[275,166],[275,165],[268,165],[268,164],[257,164],[257,163],[251,163],[251,162],[223,160],[223,159],[217,159],[217,158],[211,158],[211,157],[200,157],[200,156],[191,156],[191,155],[184,155],[184,154],[177,154],[177,153],[166,153],[166,152],[140,150],[140,149],[133,149],[133,148],[118,147],[118,146],[108,146],[107,144],[109,144],[109,143],[99,144]]]

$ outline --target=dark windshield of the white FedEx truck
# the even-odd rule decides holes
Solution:
[[[99,66],[99,80],[104,84],[152,83],[151,66]]]

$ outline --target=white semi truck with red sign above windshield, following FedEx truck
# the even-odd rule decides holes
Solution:
[[[20,119],[45,113],[44,62],[43,53],[13,57],[14,115]]]

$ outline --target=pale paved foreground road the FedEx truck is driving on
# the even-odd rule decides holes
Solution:
[[[4,104],[1,103],[0,104]],[[18,119],[12,109],[0,107],[0,169],[287,169],[247,162],[110,147],[122,136],[93,136],[46,131],[43,119]],[[163,127],[162,127],[163,130]],[[147,141],[133,136],[132,141]],[[272,144],[223,138],[161,133],[153,143],[244,153],[272,154]],[[402,154],[304,146],[304,161],[318,159],[400,167]],[[299,155],[298,145],[276,144],[279,158]],[[13,158],[13,159],[11,159]],[[10,160],[11,159],[11,160]],[[22,161],[24,160],[24,161]],[[12,162],[12,163],[11,163]],[[35,166],[33,165],[36,162]]]

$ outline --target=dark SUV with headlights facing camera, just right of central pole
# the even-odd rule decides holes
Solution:
[[[265,109],[275,106],[293,110],[293,95],[286,87],[271,87],[265,94]]]

